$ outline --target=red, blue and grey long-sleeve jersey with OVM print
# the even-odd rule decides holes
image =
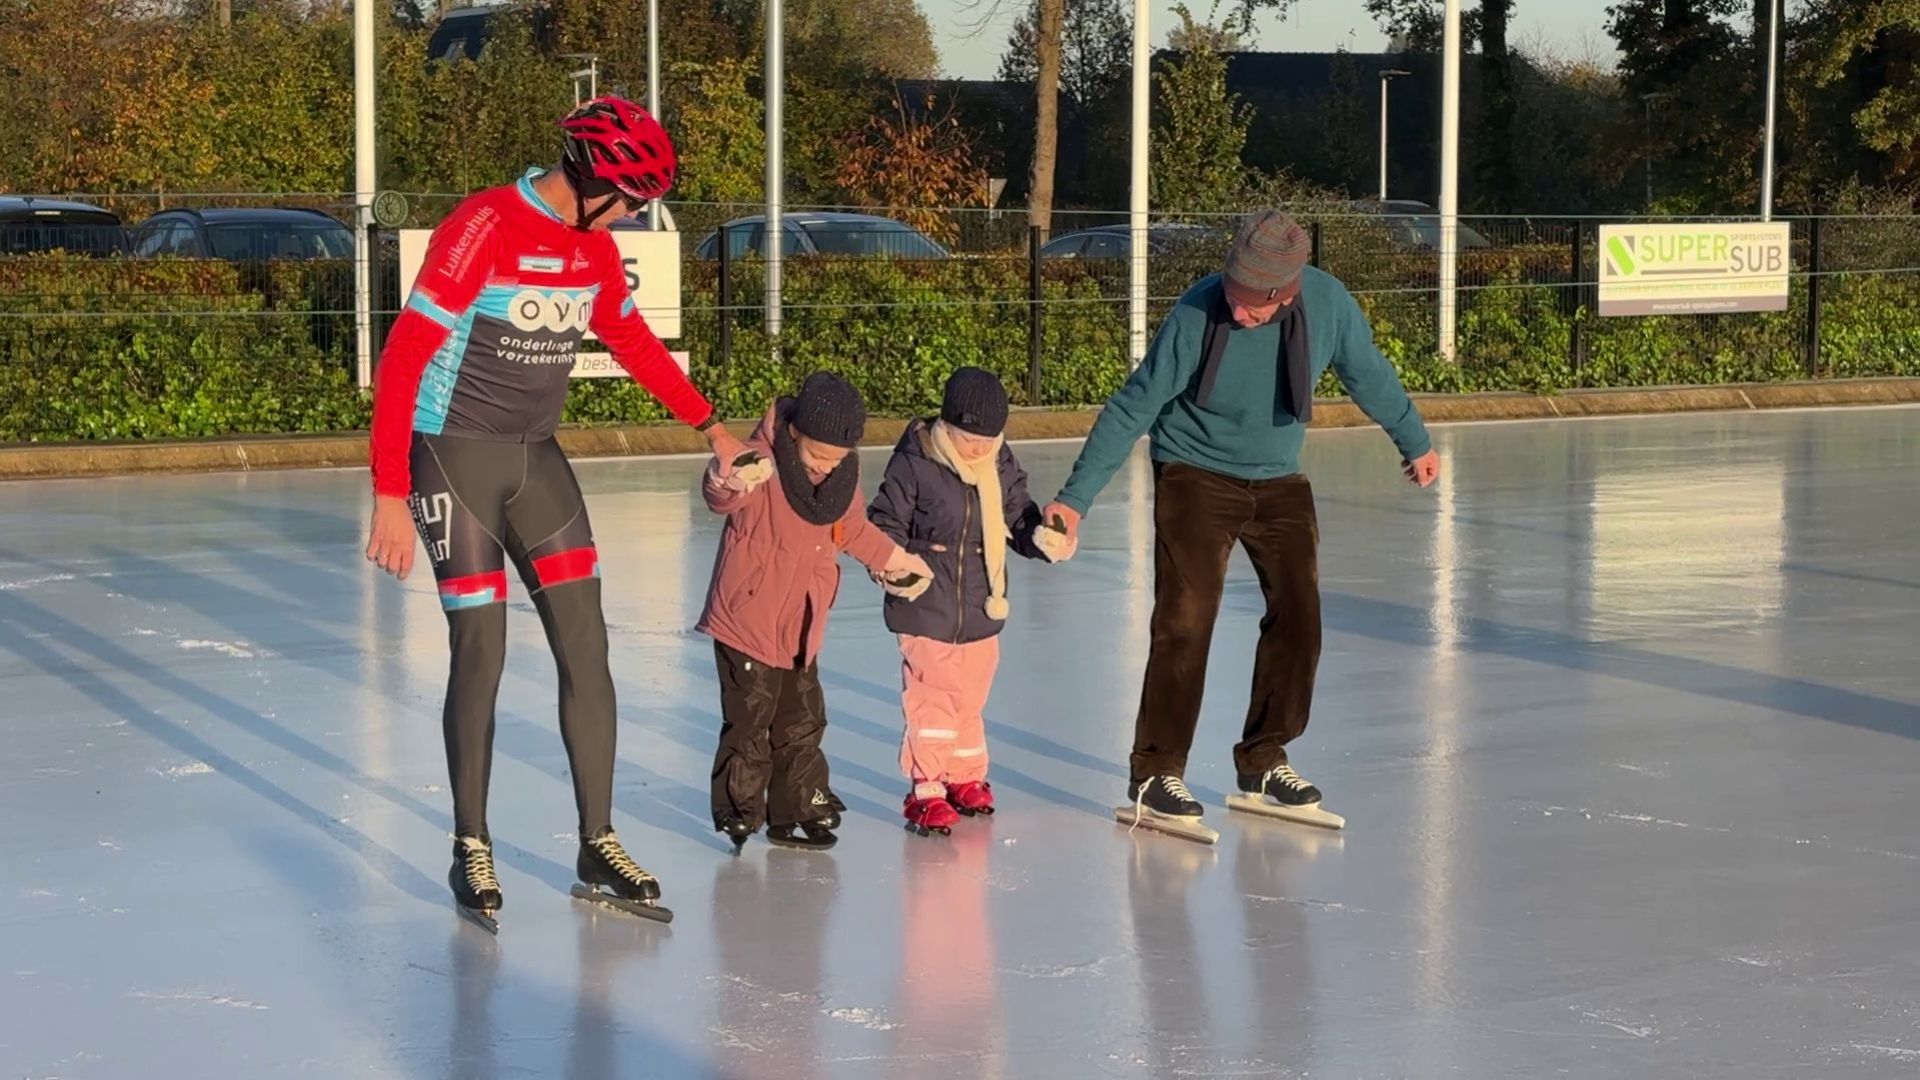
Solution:
[[[551,436],[588,329],[676,419],[712,417],[634,307],[612,236],[566,225],[538,175],[467,198],[434,229],[374,377],[374,492],[411,490],[411,432]]]

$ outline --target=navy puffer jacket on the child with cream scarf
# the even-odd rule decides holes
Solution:
[[[1004,623],[987,615],[991,590],[979,492],[933,459],[925,440],[927,421],[906,425],[866,515],[933,569],[933,584],[920,600],[887,596],[887,628],[962,646],[998,634]],[[1000,446],[1000,496],[1014,534],[1006,542],[1008,557],[1044,559],[1033,546],[1041,507],[1027,494],[1027,471],[1008,446]]]

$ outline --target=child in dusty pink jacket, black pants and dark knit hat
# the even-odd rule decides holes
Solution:
[[[712,769],[714,828],[739,853],[766,824],[766,840],[824,851],[839,811],[820,751],[828,709],[820,642],[839,594],[839,553],[868,571],[931,577],[866,519],[860,392],[814,373],[799,398],[774,402],[747,438],[749,455],[707,469],[707,507],[726,515],[699,630],[720,669],[720,748]],[[772,482],[768,482],[772,480]]]

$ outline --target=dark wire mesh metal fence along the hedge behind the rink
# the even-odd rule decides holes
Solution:
[[[346,196],[115,196],[159,209]],[[428,227],[457,196],[411,196]],[[918,407],[958,363],[1020,404],[1094,404],[1127,371],[1123,213],[789,208],[783,325],[766,334],[756,206],[674,204],[684,334],[703,388],[747,407],[812,367],[860,371],[876,407]],[[1791,219],[1788,311],[1597,319],[1596,217],[1461,217],[1457,363],[1438,363],[1438,221],[1294,208],[1313,261],[1359,298],[1411,388],[1544,388],[1920,373],[1920,217]],[[1156,217],[1154,323],[1225,256],[1236,215]],[[344,258],[0,256],[0,438],[351,427],[353,263]],[[399,309],[397,242],[374,234],[376,342]],[[778,348],[776,348],[778,346]],[[1325,386],[1336,392],[1336,386]],[[19,400],[29,404],[23,405]],[[58,400],[58,405],[52,402]],[[134,400],[140,409],[100,405]],[[620,413],[589,419],[616,419]]]

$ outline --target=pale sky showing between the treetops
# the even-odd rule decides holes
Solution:
[[[987,19],[996,2],[998,15]],[[1171,2],[1152,2],[1158,46],[1179,17],[1173,15]],[[1187,6],[1200,15],[1208,4],[1210,0],[1188,0]],[[943,73],[950,79],[993,79],[1000,69],[1006,35],[1025,6],[1027,0],[920,0],[920,10],[933,23]],[[1471,0],[1467,6],[1473,6]],[[1567,60],[1611,63],[1613,58],[1605,0],[1515,0],[1509,40]],[[1254,48],[1273,52],[1332,52],[1342,46],[1350,52],[1386,48],[1386,35],[1367,15],[1361,0],[1294,0],[1284,17],[1261,17],[1254,38]]]

